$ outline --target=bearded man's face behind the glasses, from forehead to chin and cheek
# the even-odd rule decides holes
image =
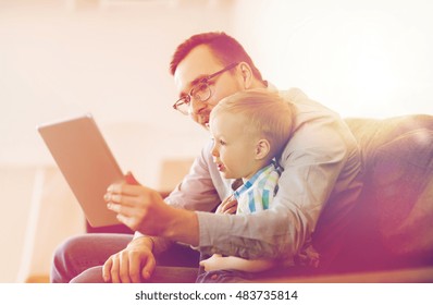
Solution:
[[[174,84],[177,88],[178,97],[189,94],[197,81],[223,68],[224,65],[215,59],[207,46],[194,48],[180,62],[174,73]],[[209,114],[213,107],[224,97],[245,89],[237,68],[215,76],[209,81],[209,84],[212,93],[211,97],[205,102],[191,98],[189,113],[194,121],[206,129],[208,129]]]

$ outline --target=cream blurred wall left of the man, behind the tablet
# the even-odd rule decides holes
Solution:
[[[231,0],[0,0],[0,244],[8,248],[0,282],[46,273],[55,245],[84,230],[36,125],[91,112],[122,169],[159,187],[164,160],[189,160],[208,139],[172,109],[171,54],[195,33],[231,32]]]

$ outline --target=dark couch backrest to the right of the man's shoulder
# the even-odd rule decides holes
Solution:
[[[347,119],[364,187],[348,231],[348,269],[433,265],[433,117]]]

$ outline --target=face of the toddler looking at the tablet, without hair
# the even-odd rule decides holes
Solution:
[[[256,159],[258,137],[245,133],[244,121],[242,114],[227,112],[211,117],[213,162],[226,179],[249,179],[260,169]]]

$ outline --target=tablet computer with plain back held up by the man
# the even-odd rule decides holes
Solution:
[[[37,126],[91,227],[119,224],[107,187],[124,180],[91,114]]]

